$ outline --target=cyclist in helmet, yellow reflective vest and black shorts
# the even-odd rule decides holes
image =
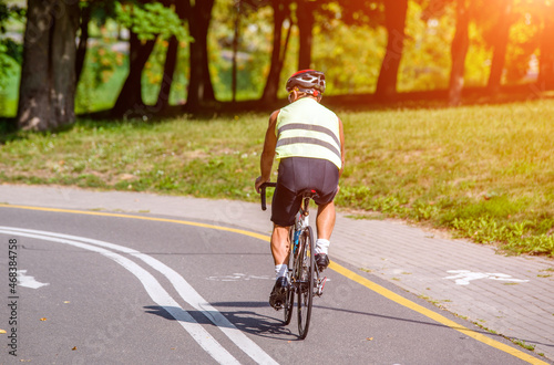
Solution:
[[[274,158],[278,160],[277,187],[271,204],[271,254],[276,282],[269,304],[279,309],[288,283],[289,227],[301,205],[299,192],[314,189],[318,196],[315,259],[324,270],[329,264],[329,239],[335,227],[334,199],[345,165],[342,122],[321,104],[326,82],[322,72],[301,70],[287,81],[289,105],[271,113],[266,132],[260,173],[255,187],[270,180]]]

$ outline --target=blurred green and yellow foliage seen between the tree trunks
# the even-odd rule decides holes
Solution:
[[[409,1],[407,39],[401,55],[398,87],[400,92],[445,88],[450,76],[450,44],[455,29],[454,2],[443,3],[440,9],[431,7],[427,0]],[[475,0],[471,3],[471,44],[465,62],[465,85],[482,86],[486,83],[494,43],[494,30],[501,19],[500,0]],[[240,18],[238,52],[237,98],[255,100],[261,95],[269,71],[269,55],[273,40],[273,10],[267,1],[244,1]],[[327,95],[371,93],[375,91],[381,69],[388,34],[383,28],[382,0],[375,1],[314,1],[316,27],[314,28],[312,67],[324,70],[328,77]],[[121,87],[122,77],[127,72],[126,64],[110,46],[116,42],[117,32],[99,34],[109,19],[116,18],[124,28],[133,30],[141,40],[158,35],[154,53],[143,74],[143,95],[147,103],[156,100],[162,79],[167,39],[179,38],[178,63],[172,84],[171,103],[183,103],[189,77],[187,27],[178,19],[173,8],[158,1],[81,1],[81,6],[92,7],[91,41],[102,38],[105,53],[93,45],[89,52],[85,70],[78,86],[75,101],[79,112],[98,111],[110,107]],[[552,2],[514,1],[510,43],[506,55],[505,79],[509,83],[529,81],[531,66],[540,60],[540,38],[552,13]],[[295,7],[293,6],[293,9]],[[432,9],[431,9],[432,8]],[[232,41],[234,35],[234,0],[218,0],[212,13],[208,33],[209,72],[216,98],[232,98]],[[248,11],[244,11],[244,10]],[[0,0],[0,30],[22,32],[24,11],[8,7]],[[288,76],[296,71],[298,62],[298,27],[291,27],[291,39],[285,55],[280,75],[279,96],[285,96],[283,87]],[[16,27],[14,27],[14,23]],[[0,32],[1,32],[0,31]],[[111,38],[106,40],[106,38]],[[91,42],[92,44],[98,44]],[[115,53],[114,53],[115,52]],[[13,41],[0,40],[0,113],[16,112],[19,87],[21,45]],[[400,56],[400,55],[399,55]],[[531,62],[531,63],[530,63]],[[533,69],[536,71],[536,69]],[[523,79],[522,79],[523,77]],[[505,82],[505,81],[504,81]],[[531,93],[531,91],[530,91]]]

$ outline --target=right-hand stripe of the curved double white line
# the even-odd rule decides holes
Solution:
[[[124,247],[124,246],[119,246],[115,243],[99,241],[99,240],[94,240],[94,239],[90,239],[90,238],[85,238],[85,237],[78,237],[78,236],[63,234],[63,233],[57,233],[57,232],[38,231],[38,230],[31,230],[31,229],[1,227],[0,226],[0,232],[2,229],[9,230],[9,233],[19,233],[19,234],[38,233],[38,234],[43,234],[43,236],[53,237],[53,238],[78,240],[78,241],[110,248],[112,250],[116,250],[116,251],[121,251],[121,252],[125,252],[125,253],[129,253],[131,255],[134,255],[134,257],[141,259],[142,261],[144,261],[145,263],[147,263],[150,267],[160,271],[162,274],[164,274],[171,281],[173,286],[175,288],[175,290],[177,291],[177,293],[181,295],[181,298],[184,301],[186,301],[194,309],[201,311],[206,317],[208,317],[223,333],[225,333],[227,335],[227,337],[229,337],[229,340],[232,340],[242,351],[244,351],[248,356],[250,356],[256,363],[258,363],[258,364],[278,364],[261,347],[259,347],[254,341],[248,338],[233,323],[230,323],[222,313],[219,313],[219,311],[217,311],[214,306],[212,306],[212,304],[209,304],[205,299],[203,299],[198,294],[198,292],[196,292],[196,290],[194,290],[194,288],[191,284],[188,284],[188,282],[181,274],[178,274],[175,270],[171,269],[170,267],[165,265],[163,262],[161,262],[161,261],[158,261],[158,260],[156,260],[156,259],[154,259],[145,253],[138,252],[134,249],[130,249],[130,248]],[[111,252],[111,251],[107,251],[107,252]],[[111,252],[111,253],[113,253],[113,252]],[[113,253],[113,254],[116,254],[116,253]],[[129,259],[125,259],[125,260],[129,260]],[[175,303],[175,306],[178,306],[178,304]],[[185,311],[183,311],[183,312],[185,312]],[[185,313],[187,313],[187,312],[185,312]],[[172,313],[172,315],[173,315],[173,313]],[[230,354],[229,354],[229,356],[230,356]]]

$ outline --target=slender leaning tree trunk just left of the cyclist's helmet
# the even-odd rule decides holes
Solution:
[[[274,41],[271,51],[271,64],[269,74],[267,75],[266,86],[261,94],[261,102],[273,103],[277,100],[279,90],[279,76],[283,69],[281,62],[281,42],[283,42],[283,23],[289,13],[288,3],[279,0],[271,1],[274,8]]]

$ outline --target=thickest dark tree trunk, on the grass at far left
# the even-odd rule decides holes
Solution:
[[[75,122],[78,28],[78,1],[28,1],[18,127],[50,131]]]

